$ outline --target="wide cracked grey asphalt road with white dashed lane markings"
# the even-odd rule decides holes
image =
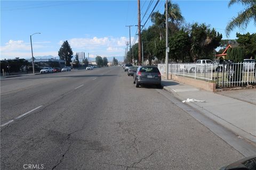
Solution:
[[[122,67],[1,80],[1,169],[216,169],[241,158]]]

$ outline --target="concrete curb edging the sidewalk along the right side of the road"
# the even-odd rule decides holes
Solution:
[[[166,90],[167,92],[170,92],[172,95],[174,95],[175,98],[179,99],[180,102],[182,100],[186,100],[185,98],[180,97],[176,92],[172,91],[170,88],[164,86],[163,87],[164,90]],[[237,128],[235,125],[229,123],[226,120],[223,120],[221,117],[218,117],[217,115],[215,115],[214,113],[212,113],[211,111],[207,111],[206,109],[196,105],[196,103],[186,103],[189,106],[197,109],[199,112],[201,112],[203,115],[211,118],[213,121],[217,122],[218,124],[222,125],[223,127],[229,129],[230,131],[234,132],[237,137],[242,137],[245,138],[247,140],[250,140],[251,142],[253,142],[256,145],[256,137],[254,137],[254,135],[243,131],[242,129]]]

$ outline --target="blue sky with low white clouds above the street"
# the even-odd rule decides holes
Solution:
[[[149,7],[144,24],[156,4]],[[243,10],[242,5],[228,8],[229,1],[172,1],[180,6],[186,22],[210,24],[223,39],[228,21]],[[160,1],[155,11],[163,13],[165,1]],[[63,41],[68,40],[74,53],[90,53],[90,57],[119,56],[125,54],[125,41],[129,41],[129,28],[137,25],[137,1],[1,1],[1,60],[4,58],[30,58],[30,35],[36,58],[58,58]],[[150,1],[141,1],[141,19]],[[150,19],[145,24],[151,25]],[[137,27],[131,27],[132,41]],[[251,22],[246,30],[236,28],[229,39],[235,39],[236,31],[256,31]]]

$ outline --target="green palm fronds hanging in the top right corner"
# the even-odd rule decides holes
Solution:
[[[235,3],[242,4],[246,6],[246,8],[244,11],[238,12],[238,15],[233,17],[231,21],[228,22],[226,27],[227,36],[229,36],[229,33],[236,27],[245,30],[247,24],[251,20],[254,20],[254,25],[256,25],[256,0],[230,0],[228,7]]]

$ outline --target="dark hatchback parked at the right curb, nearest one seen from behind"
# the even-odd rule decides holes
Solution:
[[[162,88],[161,73],[156,66],[139,66],[133,74],[133,83],[136,87],[143,84],[155,84],[158,88]]]

